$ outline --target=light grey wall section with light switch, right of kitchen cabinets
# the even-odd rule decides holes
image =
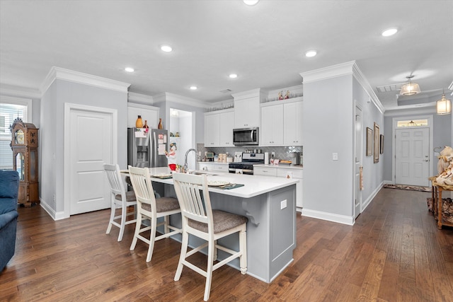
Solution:
[[[304,211],[352,217],[352,74],[304,83],[302,127]]]

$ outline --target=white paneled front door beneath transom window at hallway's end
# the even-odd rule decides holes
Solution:
[[[430,129],[395,130],[395,182],[429,186]]]

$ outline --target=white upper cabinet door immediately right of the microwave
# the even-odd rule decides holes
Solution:
[[[283,105],[261,108],[261,146],[282,146],[283,144]]]

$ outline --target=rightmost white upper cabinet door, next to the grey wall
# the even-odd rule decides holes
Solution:
[[[302,145],[303,103],[294,102],[284,105],[284,144]]]

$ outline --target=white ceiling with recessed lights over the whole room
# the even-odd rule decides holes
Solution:
[[[131,83],[134,93],[215,102],[296,86],[302,72],[355,60],[392,110],[413,104],[398,106],[398,91],[377,87],[413,74],[432,95],[453,81],[448,0],[0,0],[0,20],[0,84],[8,87],[38,89],[57,66]],[[391,27],[398,33],[382,37]],[[161,52],[164,44],[173,52]],[[311,49],[318,55],[305,57]]]

